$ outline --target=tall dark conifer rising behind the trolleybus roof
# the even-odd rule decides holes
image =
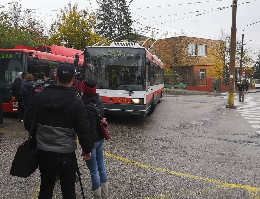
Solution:
[[[130,15],[131,13],[129,12],[129,5],[127,5],[127,1],[99,0],[98,4],[99,9],[97,11],[99,13],[98,20],[100,23],[97,27],[100,35],[110,37],[123,31],[133,31],[133,28],[131,27],[133,20]],[[122,40],[137,42],[138,36],[130,33],[117,39],[118,42]]]

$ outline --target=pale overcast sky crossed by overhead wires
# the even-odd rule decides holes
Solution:
[[[245,3],[248,1],[250,3]],[[1,0],[0,5],[4,5],[9,2],[12,2],[12,0]],[[20,0],[19,1],[19,3],[22,4],[22,8],[39,9],[39,10],[32,10],[32,11],[41,13],[39,14],[40,18],[45,20],[48,26],[51,24],[51,19],[54,18],[54,16],[56,16],[56,14],[59,13],[59,11],[47,11],[47,10],[60,10],[65,5],[67,5],[68,2],[69,0],[44,0],[44,1]],[[78,6],[79,9],[86,9],[86,7],[89,7],[89,11],[91,11],[89,0],[77,0],[77,1],[71,0],[71,2],[72,4],[77,2],[79,4]],[[195,2],[201,2],[201,3],[195,3]],[[91,0],[91,4],[93,10],[96,11],[96,8],[98,7],[96,0]],[[185,5],[176,5],[176,4],[185,4]],[[260,21],[260,14],[259,14],[260,0],[238,0],[237,4],[242,4],[237,6],[237,38],[241,39],[242,31],[246,25]],[[218,39],[218,35],[220,34],[220,29],[224,29],[227,33],[230,33],[232,8],[229,6],[231,5],[232,5],[232,0],[215,0],[215,1],[214,0],[200,0],[200,1],[198,0],[161,0],[161,1],[133,0],[132,3],[130,4],[129,9],[133,20],[136,20],[137,22],[140,23],[140,24],[137,23],[134,24],[136,29],[144,28],[145,26],[151,27],[149,28],[150,31],[143,30],[145,31],[143,33],[145,36],[151,35],[152,28],[159,29],[154,31],[155,32],[158,31],[159,32],[158,34],[160,35],[168,31],[169,34],[166,37],[172,37],[174,33],[179,34],[181,33],[181,29],[183,29],[187,31],[188,36],[207,38],[207,39]],[[229,7],[229,8],[223,10],[217,9],[223,7]],[[207,11],[203,11],[203,10],[207,10]],[[202,12],[189,13],[195,11],[202,11]],[[183,14],[183,13],[187,13],[187,14]],[[194,16],[197,14],[202,14],[202,15]],[[49,15],[53,15],[53,16],[49,16]],[[164,16],[164,17],[159,17],[159,16]],[[142,18],[146,18],[146,19],[142,19]],[[165,23],[165,24],[159,24],[159,23]],[[253,41],[248,41],[246,46],[250,47],[250,50],[255,51],[251,53],[251,56],[254,59],[256,59],[257,55],[254,53],[257,52],[259,53],[260,50],[260,22],[250,25],[244,29],[244,41],[247,40],[253,40]]]

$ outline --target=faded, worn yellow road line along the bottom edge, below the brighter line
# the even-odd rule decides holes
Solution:
[[[232,189],[232,188],[234,188],[234,187],[218,185],[218,186],[205,187],[205,188],[200,188],[200,189],[195,189],[195,190],[187,190],[187,191],[179,191],[179,192],[169,193],[169,194],[147,196],[147,197],[144,197],[144,199],[168,199],[168,198],[176,198],[176,197],[182,197],[182,196],[190,196],[190,195],[194,195],[194,194],[216,192],[216,191]]]

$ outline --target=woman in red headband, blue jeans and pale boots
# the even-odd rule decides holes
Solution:
[[[81,87],[93,144],[91,159],[85,160],[91,175],[91,192],[94,199],[108,199],[107,172],[104,164],[104,136],[100,130],[100,117],[103,118],[104,115],[103,99],[96,93],[96,82],[93,79],[84,80]]]

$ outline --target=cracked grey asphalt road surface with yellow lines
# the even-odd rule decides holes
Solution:
[[[260,94],[250,93],[260,102]],[[146,117],[108,115],[111,140],[105,164],[111,199],[259,199],[260,134],[217,94],[166,93]],[[260,103],[259,103],[260,104]],[[10,176],[23,123],[5,116],[0,132],[0,198],[38,198],[39,171],[27,179]],[[86,198],[90,174],[77,149]],[[77,198],[82,198],[79,182]],[[62,198],[59,181],[53,199]]]

